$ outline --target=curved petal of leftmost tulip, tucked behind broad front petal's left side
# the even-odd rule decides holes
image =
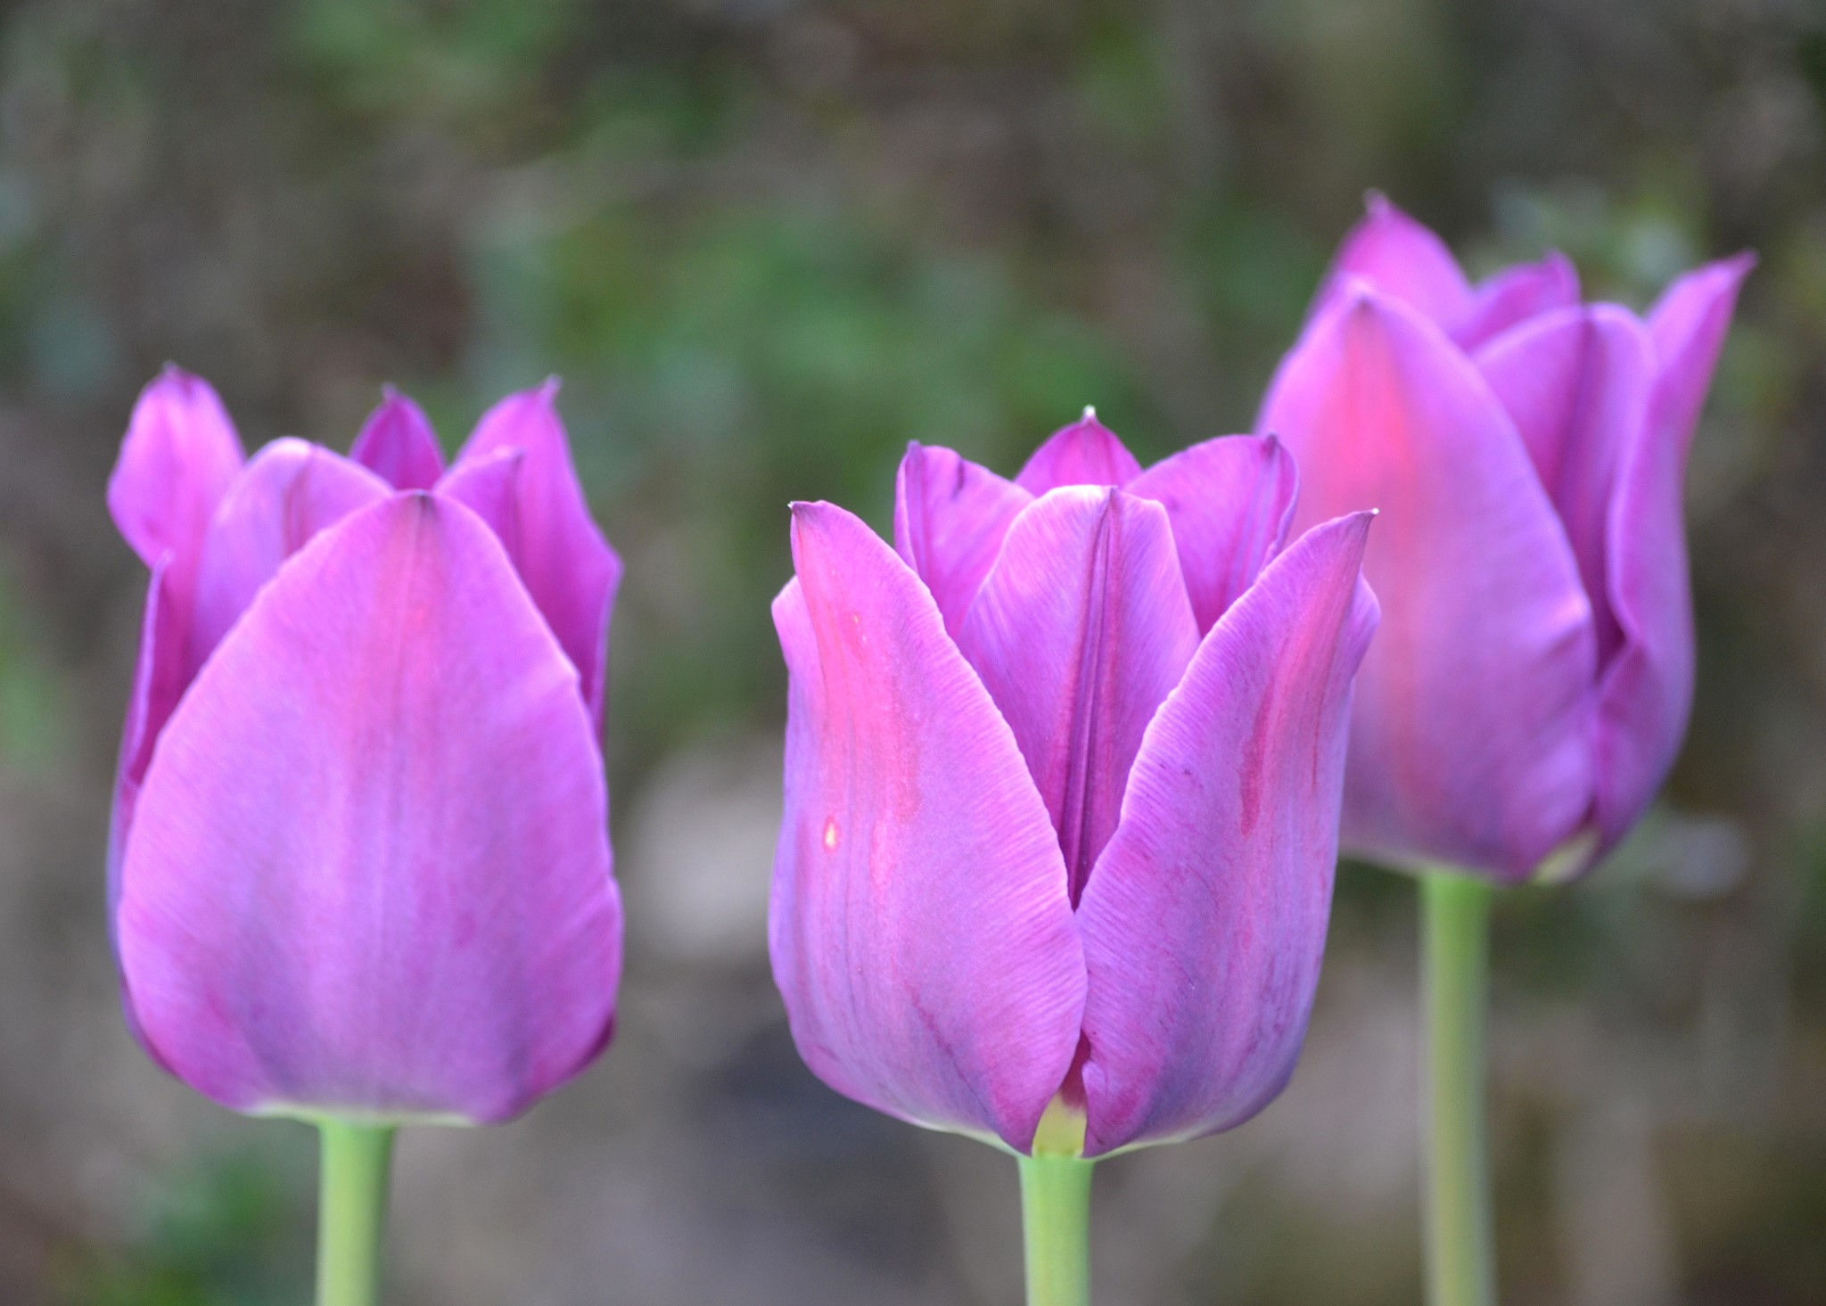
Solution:
[[[378,475],[318,444],[285,437],[256,453],[203,539],[186,679],[292,553],[387,493]]]

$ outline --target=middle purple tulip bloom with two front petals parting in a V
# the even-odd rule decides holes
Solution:
[[[1015,480],[900,464],[895,548],[796,504],[769,943],[825,1083],[1028,1151],[1227,1129],[1293,1072],[1331,902],[1370,513],[1293,460],[1149,471],[1088,413]]]

